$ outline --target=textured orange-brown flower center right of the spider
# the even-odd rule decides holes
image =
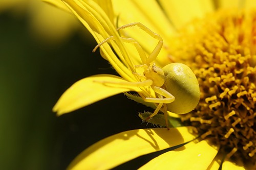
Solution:
[[[256,12],[216,12],[172,43],[170,59],[190,66],[201,91],[182,121],[214,137],[228,157],[256,162]]]

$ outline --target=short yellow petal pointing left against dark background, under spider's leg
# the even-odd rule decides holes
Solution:
[[[96,75],[81,79],[61,95],[53,111],[61,115],[121,92],[140,91],[138,87],[120,86],[118,85],[120,83],[127,83],[127,81],[113,75]]]

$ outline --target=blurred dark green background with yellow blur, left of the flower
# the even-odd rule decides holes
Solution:
[[[95,45],[68,13],[39,0],[0,1],[0,169],[65,169],[94,142],[146,127],[138,112],[148,108],[123,94],[60,117],[52,112],[76,81],[116,74],[92,53]]]

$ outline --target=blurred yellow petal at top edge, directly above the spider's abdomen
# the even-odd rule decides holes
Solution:
[[[192,19],[202,18],[205,16],[205,14],[214,11],[214,4],[209,0],[160,0],[159,2],[161,3],[169,19],[178,29],[183,27]]]

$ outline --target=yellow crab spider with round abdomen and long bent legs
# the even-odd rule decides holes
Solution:
[[[156,110],[153,114],[147,117],[145,120],[152,118],[156,115],[159,110],[162,110],[165,116],[166,126],[167,123],[167,111],[174,112],[177,114],[188,113],[193,110],[200,99],[200,89],[196,76],[193,71],[182,63],[171,63],[163,68],[157,67],[155,63],[152,62],[158,56],[162,45],[162,37],[146,26],[142,25],[140,22],[130,23],[124,26],[121,26],[117,31],[129,27],[137,26],[145,31],[147,34],[158,40],[158,43],[152,53],[146,57],[143,48],[140,44],[133,38],[123,38],[120,39],[125,43],[132,43],[135,45],[138,54],[140,56],[141,65],[135,65],[135,67],[143,67],[144,72],[143,76],[134,73],[135,75],[144,78],[144,81],[141,82],[127,82],[126,85],[134,86],[151,86],[155,91],[157,98],[148,98],[140,94],[142,99],[145,102],[158,104]],[[93,52],[97,50],[99,46],[110,41],[115,40],[113,36],[106,38],[104,41],[100,42],[94,49]],[[101,83],[113,83],[113,82],[101,82]],[[114,83],[118,84],[118,83]],[[123,85],[123,83],[120,85]]]

